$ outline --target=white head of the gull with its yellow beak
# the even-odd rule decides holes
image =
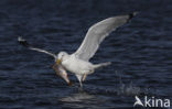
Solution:
[[[68,54],[66,52],[60,52],[57,54],[56,64],[60,65],[67,56]]]

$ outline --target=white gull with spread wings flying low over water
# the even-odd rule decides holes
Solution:
[[[126,15],[117,15],[105,19],[88,29],[86,36],[76,52],[68,54],[67,52],[60,52],[57,55],[44,50],[30,47],[31,50],[46,53],[55,58],[57,65],[62,65],[64,69],[75,74],[80,87],[87,75],[95,73],[96,69],[110,65],[110,62],[93,64],[89,59],[97,52],[100,43],[117,28],[129,22],[138,12],[132,12]],[[25,40],[18,40],[22,45],[28,46]]]

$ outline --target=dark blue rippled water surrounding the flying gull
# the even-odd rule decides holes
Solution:
[[[132,108],[135,96],[172,98],[170,0],[1,0],[0,108]],[[140,13],[103,42],[93,63],[112,62],[68,87],[51,68],[53,58],[18,44],[22,35],[53,53],[73,53],[87,29],[108,17]]]

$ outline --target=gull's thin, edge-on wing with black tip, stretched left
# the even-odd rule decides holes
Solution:
[[[50,52],[47,52],[47,51],[45,51],[45,50],[41,50],[41,48],[33,47],[33,46],[31,46],[31,45],[30,45],[24,39],[22,39],[22,37],[18,37],[18,42],[19,42],[21,45],[23,45],[23,46],[25,46],[25,47],[28,47],[28,48],[30,48],[30,50],[37,51],[37,52],[42,52],[42,53],[49,54],[49,55],[53,56],[54,58],[56,58],[55,54],[50,53]]]

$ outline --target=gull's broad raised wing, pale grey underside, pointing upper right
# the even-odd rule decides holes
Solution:
[[[99,44],[108,34],[115,31],[118,26],[127,23],[137,12],[127,15],[118,15],[105,19],[89,28],[82,45],[74,53],[80,59],[89,61],[96,53]]]

